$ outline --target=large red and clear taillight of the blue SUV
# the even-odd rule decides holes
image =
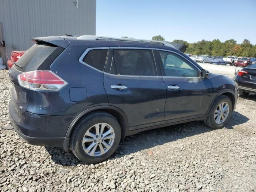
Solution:
[[[18,75],[18,82],[24,88],[57,91],[67,82],[52,71],[30,71]]]

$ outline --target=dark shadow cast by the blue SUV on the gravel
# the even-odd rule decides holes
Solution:
[[[232,129],[233,126],[243,124],[248,120],[249,119],[246,116],[238,112],[233,112],[225,128]],[[109,159],[120,158],[141,150],[150,149],[154,146],[165,144],[167,142],[173,142],[182,138],[191,137],[213,130],[214,129],[209,128],[203,122],[196,121],[140,132],[121,139],[118,149]],[[76,166],[78,164],[85,164],[78,160],[71,151],[65,152],[63,148],[45,148],[56,164],[62,166]]]

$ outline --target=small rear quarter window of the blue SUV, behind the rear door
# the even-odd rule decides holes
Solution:
[[[107,58],[107,49],[90,50],[83,59],[86,64],[103,71]]]

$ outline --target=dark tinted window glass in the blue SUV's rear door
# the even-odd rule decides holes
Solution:
[[[114,50],[110,73],[116,75],[156,76],[152,50]]]

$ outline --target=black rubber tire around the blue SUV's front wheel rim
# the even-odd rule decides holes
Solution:
[[[216,123],[216,121],[218,121],[218,116],[215,117],[216,114],[216,110],[220,109],[219,106],[220,104],[225,103],[228,104],[229,110],[228,110],[228,114],[226,114],[227,111],[224,111],[224,113],[220,113],[220,122]],[[224,110],[226,105],[224,104]],[[210,112],[207,115],[206,120],[204,121],[204,124],[206,124],[207,126],[209,126],[210,128],[213,129],[220,129],[223,128],[224,125],[226,124],[226,122],[228,122],[228,119],[231,116],[233,110],[233,106],[232,106],[232,101],[230,100],[230,98],[228,96],[225,95],[221,95],[219,96],[219,98],[216,100],[216,102],[214,102],[212,108],[210,109]],[[219,110],[218,110],[219,111]],[[222,119],[222,116],[224,117],[224,114],[226,114],[227,116],[225,117],[226,119]],[[221,121],[222,120],[222,121]]]

